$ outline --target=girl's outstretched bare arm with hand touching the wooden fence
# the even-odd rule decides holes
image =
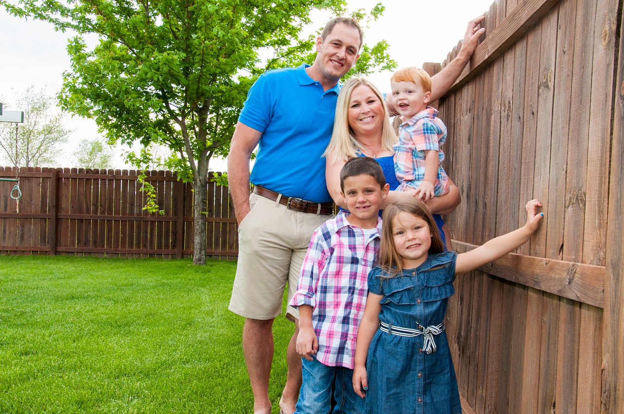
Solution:
[[[476,249],[459,254],[455,265],[455,274],[473,271],[485,263],[502,258],[505,254],[526,243],[537,231],[540,221],[544,217],[544,213],[537,213],[537,208],[541,206],[542,203],[539,200],[529,201],[526,206],[527,223],[524,226],[511,233],[491,239]]]

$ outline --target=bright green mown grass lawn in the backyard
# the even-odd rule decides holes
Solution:
[[[0,413],[251,413],[235,262],[0,256]],[[293,325],[278,317],[273,412]]]

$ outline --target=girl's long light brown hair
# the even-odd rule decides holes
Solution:
[[[440,238],[440,234],[437,231],[436,221],[431,216],[431,212],[427,206],[421,200],[414,198],[413,200],[394,201],[384,209],[378,257],[379,266],[381,266],[390,277],[399,274],[403,266],[403,259],[397,252],[392,234],[392,220],[397,214],[401,213],[401,211],[420,217],[427,222],[429,233],[431,233],[431,246],[429,246],[428,251],[430,254],[442,253],[446,250]]]

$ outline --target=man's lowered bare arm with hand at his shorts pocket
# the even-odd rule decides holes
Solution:
[[[238,224],[249,213],[249,160],[262,133],[238,122],[228,155],[228,184]]]

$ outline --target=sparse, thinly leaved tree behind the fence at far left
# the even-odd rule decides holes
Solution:
[[[66,114],[56,107],[56,99],[45,89],[29,86],[4,109],[24,112],[24,123],[0,122],[0,147],[14,166],[51,166],[63,152],[71,130],[66,127]]]

